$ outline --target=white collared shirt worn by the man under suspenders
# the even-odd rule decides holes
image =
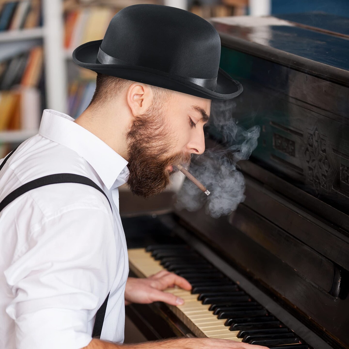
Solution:
[[[101,339],[124,340],[128,258],[118,187],[127,161],[67,114],[45,109],[37,135],[0,171],[0,202],[33,179],[75,173],[84,184],[36,188],[0,212],[0,348],[79,349],[110,296]],[[3,159],[0,160],[0,163]]]

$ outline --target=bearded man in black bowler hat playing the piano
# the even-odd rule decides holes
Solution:
[[[171,44],[161,38],[164,32]],[[182,304],[163,290],[173,285],[191,289],[169,272],[147,279],[127,277],[118,187],[127,182],[144,198],[164,190],[174,165],[188,164],[191,154],[203,153],[211,99],[232,98],[240,85],[221,70],[217,77],[217,32],[189,12],[130,6],[113,17],[101,41],[79,46],[73,54],[77,64],[97,72],[88,108],[75,121],[44,110],[39,133],[1,161],[1,348],[120,348],[125,304]],[[173,57],[177,51],[172,46],[185,61]],[[163,54],[164,48],[170,52]],[[207,57],[199,57],[207,49]],[[58,173],[87,177],[95,187],[60,181],[4,200],[26,183]],[[103,303],[101,339],[92,339]],[[211,339],[127,347],[154,345],[251,347]]]

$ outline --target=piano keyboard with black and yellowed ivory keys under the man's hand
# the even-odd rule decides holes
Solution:
[[[169,270],[187,279],[192,290],[165,292],[184,299],[169,309],[197,336],[269,348],[308,349],[308,345],[236,283],[187,245],[153,245],[128,250],[130,269],[138,277]]]

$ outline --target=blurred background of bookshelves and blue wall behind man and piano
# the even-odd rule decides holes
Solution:
[[[0,0],[0,158],[38,131],[46,108],[79,116],[96,74],[72,61],[75,47],[102,39],[112,16],[136,3],[203,18],[317,11],[349,17],[347,0]]]

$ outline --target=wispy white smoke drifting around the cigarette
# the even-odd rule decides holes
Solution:
[[[177,194],[178,210],[196,211],[205,205],[206,213],[214,218],[229,215],[245,200],[245,180],[236,163],[248,159],[257,147],[259,126],[245,129],[233,118],[236,103],[212,101],[210,123],[222,137],[222,147],[207,149],[193,158],[190,172],[211,192],[206,196],[190,180],[185,180]]]

